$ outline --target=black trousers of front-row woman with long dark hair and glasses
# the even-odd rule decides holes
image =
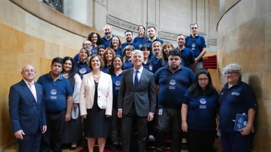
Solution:
[[[215,129],[187,129],[186,142],[189,152],[212,152],[215,140]]]

